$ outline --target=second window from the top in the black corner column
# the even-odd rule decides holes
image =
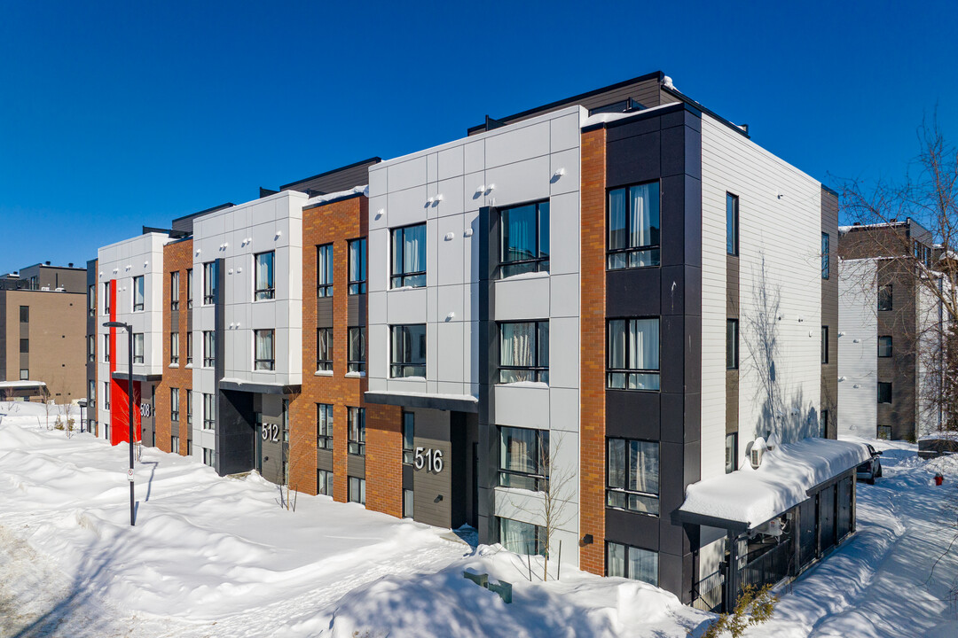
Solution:
[[[615,389],[659,389],[659,320],[608,322],[607,385]]]

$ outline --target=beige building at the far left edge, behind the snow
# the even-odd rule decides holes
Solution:
[[[84,269],[55,267],[42,271],[43,275],[52,274],[54,280],[71,282],[77,272],[84,273]],[[0,280],[0,381],[43,382],[57,403],[86,396],[86,290],[82,276],[82,287],[61,284],[60,290],[54,286],[33,288],[28,278],[16,274]],[[24,285],[24,281],[28,283]]]

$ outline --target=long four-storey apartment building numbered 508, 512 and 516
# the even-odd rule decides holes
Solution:
[[[854,530],[835,195],[663,74],[260,195],[101,250],[145,441],[707,608]]]

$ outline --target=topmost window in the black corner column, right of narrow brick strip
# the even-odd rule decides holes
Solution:
[[[658,182],[609,190],[608,269],[658,265]]]

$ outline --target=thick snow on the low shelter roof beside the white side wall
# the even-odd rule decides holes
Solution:
[[[762,465],[688,487],[679,514],[743,523],[749,529],[808,499],[808,491],[869,458],[854,441],[808,438],[765,451]]]

